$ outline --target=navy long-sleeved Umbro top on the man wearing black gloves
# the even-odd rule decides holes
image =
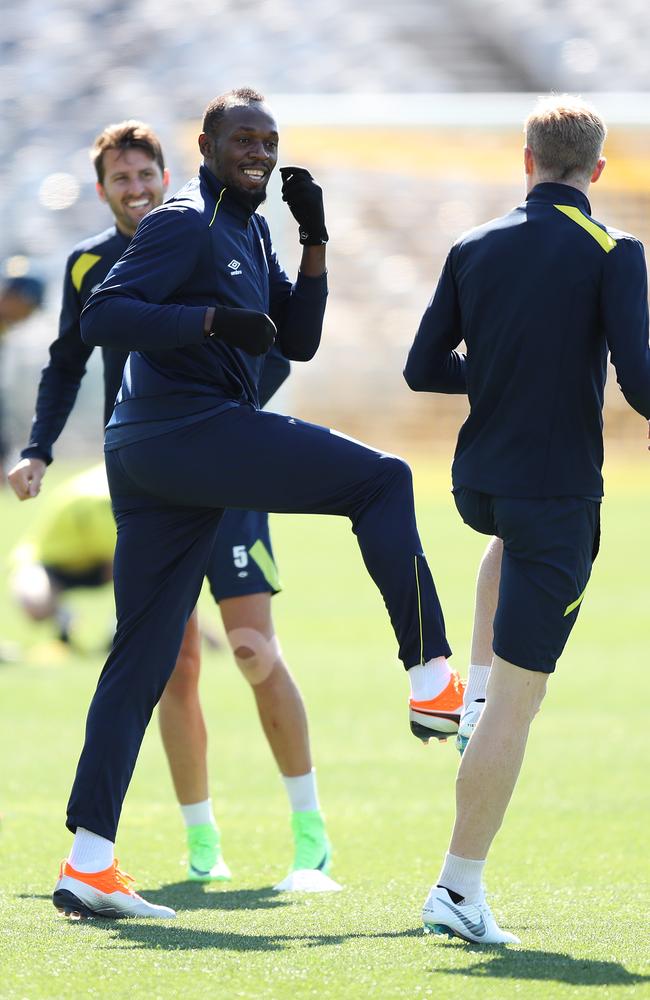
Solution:
[[[285,359],[307,361],[322,329],[327,278],[278,263],[266,220],[202,167],[150,212],[86,305],[89,345],[131,351],[106,448],[165,433],[220,410],[260,405],[264,357],[206,338],[207,306],[268,313]]]

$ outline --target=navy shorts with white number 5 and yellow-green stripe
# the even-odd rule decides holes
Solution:
[[[215,601],[281,590],[271,548],[269,515],[225,510],[205,574]]]

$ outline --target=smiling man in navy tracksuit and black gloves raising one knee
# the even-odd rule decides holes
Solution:
[[[282,170],[303,246],[295,284],[255,213],[277,146],[260,94],[215,99],[199,137],[200,175],[142,220],[82,315],[87,343],[132,353],[106,435],[118,526],[117,632],[68,804],[68,827],[94,872],[65,865],[54,893],[64,912],[174,915],[129,890],[113,842],[226,507],[350,517],[409,669],[412,703],[431,735],[457,729],[462,687],[447,664],[408,466],[258,407],[264,355],[275,341],[286,358],[312,358],[327,297],[328,237],[311,175]],[[251,676],[272,672],[277,650],[264,636],[242,635],[241,648]]]

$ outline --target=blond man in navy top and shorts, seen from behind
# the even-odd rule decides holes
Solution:
[[[526,122],[525,204],[452,247],[405,369],[416,390],[466,384],[454,497],[464,521],[503,541],[485,707],[424,905],[426,926],[480,943],[517,941],[481,878],[598,550],[608,351],[627,401],[650,418],[643,247],[595,221],[587,198],[604,138],[582,102],[540,103]]]

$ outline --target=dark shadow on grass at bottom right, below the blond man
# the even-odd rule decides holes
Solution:
[[[449,942],[444,948],[462,947],[483,956],[482,962],[462,968],[433,968],[435,975],[473,976],[476,979],[530,979],[545,982],[569,983],[572,986],[633,986],[650,982],[650,976],[628,972],[618,962],[600,962],[586,958],[572,958],[554,951],[510,951],[503,946],[457,945]],[[489,956],[489,957],[488,957]],[[488,960],[485,961],[485,958]]]

